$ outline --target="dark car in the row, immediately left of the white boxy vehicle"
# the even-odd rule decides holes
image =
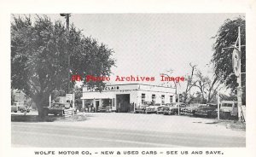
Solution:
[[[195,116],[206,116],[208,118],[215,118],[216,117],[216,112],[218,106],[217,104],[214,103],[207,103],[204,105],[200,105],[198,108],[195,109]]]

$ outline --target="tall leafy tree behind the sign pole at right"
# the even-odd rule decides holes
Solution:
[[[214,53],[212,55],[212,63],[214,64],[215,77],[236,93],[236,75],[233,73],[232,67],[232,51],[233,49],[223,49],[234,46],[238,37],[238,26],[241,28],[241,86],[242,86],[242,102],[246,103],[246,22],[244,17],[238,17],[235,20],[225,20],[224,24],[219,27],[216,39],[213,44]]]

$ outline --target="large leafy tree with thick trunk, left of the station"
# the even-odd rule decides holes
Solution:
[[[67,73],[108,76],[114,65],[112,49],[71,26],[68,31],[60,21],[47,16],[14,17],[11,23],[11,85],[32,98],[38,115],[44,118],[52,90],[67,90]],[[71,67],[67,65],[70,56]],[[84,82],[87,84],[87,82]],[[101,88],[101,82],[90,82]]]

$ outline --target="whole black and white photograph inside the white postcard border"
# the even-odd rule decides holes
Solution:
[[[11,15],[11,144],[246,147],[244,14]]]

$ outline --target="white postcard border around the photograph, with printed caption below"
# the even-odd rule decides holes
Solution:
[[[56,1],[3,1],[0,7],[1,45],[1,113],[0,156],[34,156],[33,150],[84,150],[84,148],[11,148],[10,144],[10,14],[70,13],[246,13],[247,25],[247,147],[246,148],[168,148],[168,150],[222,150],[222,156],[256,156],[256,104],[255,85],[255,0],[56,0]],[[254,52],[253,52],[254,51]],[[254,73],[253,73],[254,72]],[[86,148],[86,150],[97,148]],[[100,148],[100,150],[124,150],[125,148]],[[131,148],[142,150],[142,148]],[[130,149],[130,150],[131,150]],[[143,148],[145,149],[145,148]],[[156,149],[156,148],[149,148]],[[159,150],[166,148],[158,148]],[[97,149],[99,150],[99,149]],[[49,156],[49,155],[48,155]],[[122,156],[122,155],[118,155]],[[154,155],[153,155],[154,156]],[[179,155],[176,155],[179,156]]]

